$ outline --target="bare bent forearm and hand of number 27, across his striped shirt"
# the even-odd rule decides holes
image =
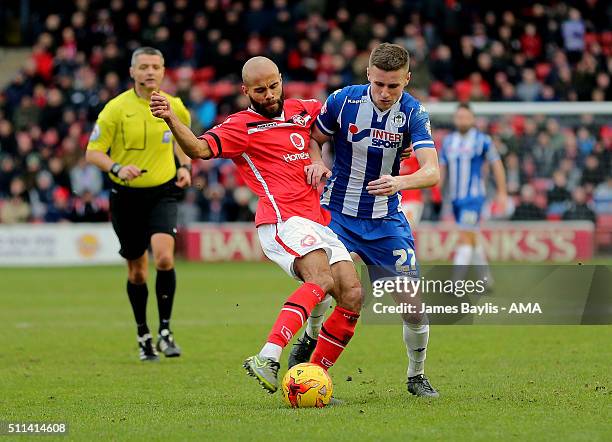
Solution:
[[[368,193],[377,196],[391,196],[400,190],[423,189],[432,187],[440,181],[438,153],[433,147],[423,147],[415,151],[419,170],[410,175],[383,175],[370,181],[366,187]]]

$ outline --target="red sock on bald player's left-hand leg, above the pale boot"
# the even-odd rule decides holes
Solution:
[[[325,298],[325,293],[317,284],[310,282],[302,284],[283,305],[268,335],[268,342],[285,347],[293,335],[306,323],[314,306],[323,298]]]

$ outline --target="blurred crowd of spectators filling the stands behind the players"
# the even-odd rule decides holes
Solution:
[[[77,0],[41,5],[30,20],[31,57],[0,94],[2,223],[108,219],[109,183],[84,161],[84,147],[104,104],[129,87],[130,55],[141,45],[164,53],[163,88],[188,106],[196,133],[247,106],[239,71],[253,55],[279,65],[286,96],[325,99],[367,81],[369,50],[382,41],[409,50],[409,91],[425,103],[612,100],[612,6],[600,0],[511,9],[455,0]],[[503,156],[513,196],[498,216],[612,213],[609,121],[515,115],[479,125]],[[449,129],[439,125],[434,139]],[[438,219],[439,201],[424,194],[426,219]],[[250,221],[253,201],[231,162],[200,162],[180,222]]]

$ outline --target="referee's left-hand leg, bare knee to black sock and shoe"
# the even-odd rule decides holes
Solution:
[[[136,320],[138,348],[141,361],[157,361],[159,357],[153,348],[153,338],[147,325],[147,288],[148,256],[130,259],[128,264],[127,293]]]

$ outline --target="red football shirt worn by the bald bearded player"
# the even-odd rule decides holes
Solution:
[[[288,99],[278,118],[271,120],[247,109],[200,137],[216,158],[233,160],[247,186],[259,196],[256,226],[292,216],[329,223],[319,193],[306,183],[304,174],[304,166],[311,164],[310,127],[320,110],[317,100]]]

